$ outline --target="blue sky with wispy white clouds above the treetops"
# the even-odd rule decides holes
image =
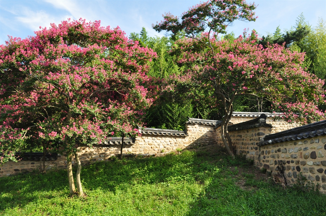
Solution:
[[[247,1],[253,2],[253,1]],[[296,18],[304,13],[306,21],[315,26],[318,18],[326,20],[326,0],[258,0],[256,22],[235,21],[228,32],[236,36],[244,28],[255,29],[259,34],[273,33],[279,25],[281,30],[295,25]],[[67,18],[83,18],[87,21],[101,20],[102,26],[119,26],[126,35],[139,33],[145,27],[149,36],[163,36],[151,25],[162,20],[162,14],[182,12],[200,3],[195,0],[0,0],[0,44],[7,35],[25,38],[34,35],[39,26],[49,27]]]

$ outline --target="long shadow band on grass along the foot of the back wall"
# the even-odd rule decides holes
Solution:
[[[115,192],[142,184],[180,181],[197,183],[210,173],[207,170],[218,170],[212,161],[225,158],[224,154],[218,153],[197,154],[200,156],[185,151],[180,155],[123,160],[112,158],[109,161],[96,162],[83,166],[82,184],[86,192],[99,188]],[[0,181],[0,210],[23,208],[29,202],[51,199],[54,196],[68,197],[69,194],[67,170],[1,177]]]

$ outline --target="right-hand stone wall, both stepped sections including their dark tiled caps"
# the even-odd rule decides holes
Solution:
[[[268,124],[242,122],[228,129],[235,154],[254,160],[271,176],[284,176],[288,185],[300,181],[326,193],[326,120],[274,134]],[[221,138],[217,143],[223,145]]]

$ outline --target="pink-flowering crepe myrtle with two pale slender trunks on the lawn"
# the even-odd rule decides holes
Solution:
[[[117,128],[138,132],[133,128],[153,101],[145,72],[156,53],[100,21],[69,19],[35,34],[0,46],[1,163],[15,160],[23,145],[46,142],[67,155],[71,196],[75,156],[83,196],[77,148],[101,143]]]

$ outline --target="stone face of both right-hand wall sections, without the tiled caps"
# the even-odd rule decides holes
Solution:
[[[269,127],[231,131],[235,154],[254,160],[256,167],[266,169],[271,176],[284,172],[288,185],[300,180],[310,186],[318,185],[319,190],[326,193],[326,135],[257,145],[270,132]],[[306,181],[302,181],[302,177]]]

